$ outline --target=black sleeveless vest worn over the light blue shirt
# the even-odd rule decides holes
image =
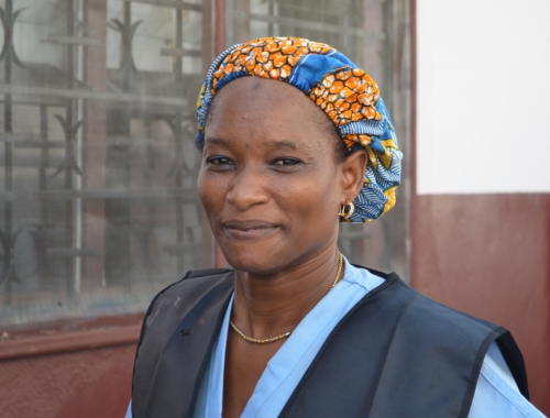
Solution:
[[[493,341],[528,398],[510,333],[426,298],[395,273],[338,323],[280,417],[468,417]],[[233,271],[189,272],[152,301],[135,358],[134,418],[193,417]]]

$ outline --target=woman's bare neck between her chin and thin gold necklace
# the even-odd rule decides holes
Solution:
[[[339,252],[330,245],[307,262],[270,276],[237,272],[233,322],[255,339],[293,331],[330,290],[338,261]]]

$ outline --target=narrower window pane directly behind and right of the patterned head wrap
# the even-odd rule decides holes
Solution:
[[[228,45],[300,36],[348,55],[381,87],[405,154],[397,205],[380,220],[342,224],[339,246],[352,263],[408,277],[410,55],[406,0],[227,0]]]

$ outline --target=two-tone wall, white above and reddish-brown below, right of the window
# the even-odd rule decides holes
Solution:
[[[413,284],[508,328],[550,415],[550,2],[416,1]]]

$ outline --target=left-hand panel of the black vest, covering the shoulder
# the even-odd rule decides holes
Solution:
[[[164,417],[170,407],[190,405],[195,380],[219,331],[232,292],[233,271],[209,270],[188,272],[155,296],[138,343],[134,414],[139,410],[145,416],[146,410],[147,416]],[[175,365],[186,373],[173,373]],[[183,395],[166,395],[175,394],[174,388]],[[163,394],[163,402],[150,404],[158,394]]]

